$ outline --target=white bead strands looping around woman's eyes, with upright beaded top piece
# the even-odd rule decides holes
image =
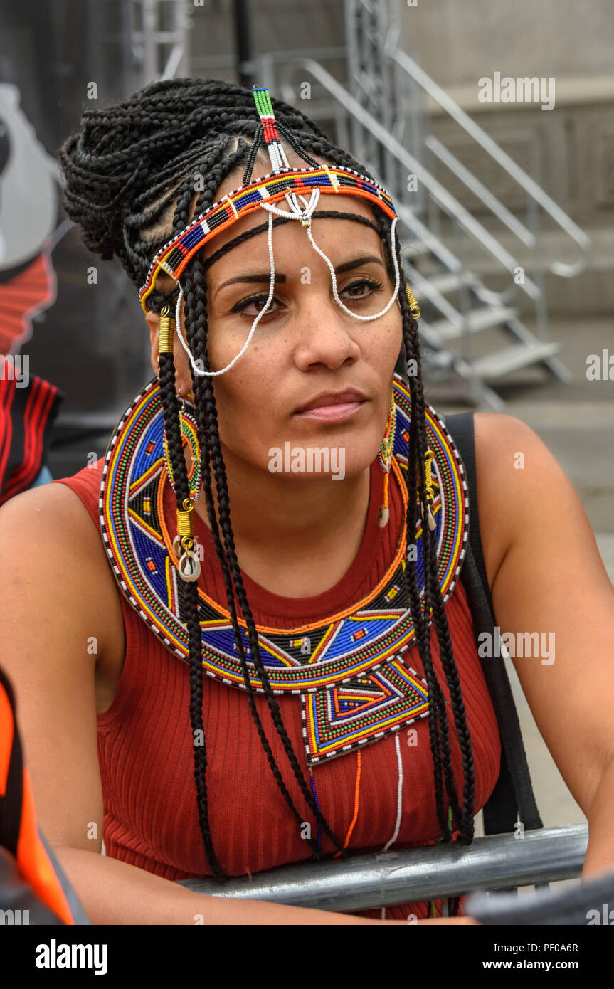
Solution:
[[[280,135],[279,135],[279,130],[278,130],[277,125],[276,125],[275,115],[273,113],[273,106],[271,104],[271,99],[270,99],[270,96],[269,96],[268,88],[254,86],[253,89],[252,89],[252,93],[253,93],[253,96],[254,96],[254,101],[256,103],[256,109],[258,110],[258,113],[260,115],[260,126],[262,128],[262,132],[263,132],[264,140],[265,140],[265,143],[266,143],[266,147],[267,147],[267,150],[269,152],[269,157],[271,159],[271,165],[272,165],[272,169],[273,169],[273,175],[281,175],[283,173],[283,169],[288,169],[289,171],[292,171],[292,169],[290,168],[290,164],[288,162],[288,158],[286,156],[286,152],[284,151],[284,148],[283,148],[282,143],[281,143],[281,138],[280,138]],[[354,191],[354,192],[357,192],[357,191],[360,191],[360,188],[362,186],[364,186],[365,183],[367,184],[367,186],[368,186],[369,189],[373,189],[374,191],[376,190],[376,187],[374,186],[374,184],[373,184],[373,182],[371,180],[364,179],[364,182],[361,183],[360,182],[360,178],[364,178],[364,177],[360,177],[360,176],[358,177],[358,181],[357,180],[354,180],[353,187],[351,187],[348,184],[348,186],[344,189],[344,185],[339,182],[339,175],[338,175],[338,173],[342,171],[341,169],[336,169],[335,170],[337,172],[337,175],[336,176],[334,174],[332,174],[331,173],[331,170],[329,168],[327,168],[326,166],[323,166],[323,171],[327,174],[328,179],[330,180],[328,182],[328,185],[329,186],[332,186],[333,187],[333,191],[335,191],[335,192],[340,192],[340,193],[343,193],[344,191],[348,191],[348,192],[349,191]],[[358,176],[358,173],[357,172],[350,172],[350,177],[352,175]],[[266,176],[265,178],[268,179],[268,176]],[[261,183],[261,182],[262,182],[262,180],[260,180],[260,179],[256,179],[255,180],[255,183]],[[255,183],[251,183],[251,185],[254,185]],[[269,183],[269,185],[270,184],[271,183]],[[358,188],[356,188],[357,186],[358,186]],[[266,190],[266,186],[264,188]],[[380,190],[381,187],[377,187],[377,189]],[[262,186],[261,186],[261,188],[259,190],[260,191],[260,195],[262,196],[262,191],[261,190],[262,190]],[[329,189],[325,189],[324,191],[330,191],[330,190]],[[391,198],[385,193],[384,190],[381,190],[381,193],[384,193],[384,195],[386,196],[386,200],[388,200],[388,202],[391,204],[391,208],[392,208],[392,200],[391,200]],[[184,348],[186,354],[188,355],[188,358],[190,360],[190,364],[192,365],[192,369],[193,369],[195,375],[198,375],[199,377],[217,378],[219,375],[225,374],[227,371],[230,370],[230,368],[234,367],[234,365],[239,360],[239,358],[242,357],[243,354],[245,353],[245,351],[247,350],[247,348],[248,348],[248,346],[249,346],[249,344],[250,344],[250,342],[252,340],[252,337],[253,337],[253,335],[254,335],[254,333],[256,331],[256,327],[257,327],[260,319],[262,318],[263,315],[265,315],[265,313],[267,312],[267,310],[269,309],[269,307],[271,305],[271,302],[273,301],[273,292],[274,292],[274,288],[275,288],[275,256],[274,256],[274,253],[273,253],[273,215],[274,214],[276,216],[279,216],[279,217],[285,217],[285,218],[287,218],[289,220],[299,220],[301,222],[301,224],[306,227],[306,229],[307,229],[307,237],[308,237],[309,243],[311,244],[311,247],[322,258],[322,260],[324,260],[326,262],[326,264],[328,266],[328,269],[330,271],[331,281],[332,281],[332,294],[333,294],[333,298],[334,298],[337,306],[339,306],[343,310],[344,313],[346,313],[347,315],[352,316],[354,319],[361,319],[364,322],[369,322],[372,319],[379,319],[381,316],[386,315],[386,313],[388,313],[388,311],[390,310],[391,306],[395,302],[395,299],[396,299],[396,296],[397,296],[397,293],[398,293],[398,286],[400,284],[400,273],[399,273],[399,270],[398,270],[398,262],[397,262],[397,259],[396,259],[396,251],[395,251],[395,226],[396,226],[396,222],[397,222],[398,218],[396,216],[394,216],[393,222],[391,224],[391,233],[390,233],[390,235],[391,235],[391,256],[393,258],[393,264],[394,264],[394,268],[395,268],[395,289],[393,291],[393,294],[392,294],[391,298],[389,299],[387,305],[384,307],[384,309],[380,313],[376,313],[375,315],[358,315],[356,313],[353,313],[350,309],[348,309],[348,307],[345,306],[344,303],[339,298],[339,294],[337,292],[337,279],[336,279],[335,270],[334,270],[334,267],[332,265],[332,262],[330,261],[330,258],[328,258],[326,256],[326,254],[323,252],[323,250],[320,247],[318,247],[318,245],[315,243],[315,241],[313,239],[313,233],[312,233],[312,230],[311,230],[311,214],[313,213],[315,207],[317,206],[317,203],[318,203],[318,200],[319,200],[319,196],[320,196],[320,187],[313,185],[313,188],[311,188],[311,190],[310,190],[310,196],[309,196],[308,202],[307,202],[305,196],[303,196],[301,193],[297,194],[297,192],[295,192],[295,191],[288,191],[288,192],[285,193],[284,199],[288,203],[288,206],[290,208],[289,210],[280,210],[277,206],[274,206],[272,203],[266,203],[266,202],[263,202],[263,201],[260,201],[260,202],[257,203],[257,206],[258,207],[260,207],[263,210],[266,210],[268,212],[268,214],[269,214],[269,221],[268,221],[268,228],[267,228],[267,241],[268,241],[268,250],[269,250],[270,273],[271,273],[271,278],[270,278],[270,283],[269,283],[269,295],[268,295],[267,301],[266,301],[263,309],[261,309],[260,312],[258,313],[258,315],[256,315],[256,317],[254,318],[254,321],[252,322],[251,328],[250,328],[249,333],[247,335],[247,339],[245,340],[245,343],[243,344],[243,346],[239,350],[238,354],[235,357],[233,357],[232,360],[228,364],[226,364],[226,366],[224,368],[221,368],[219,371],[205,371],[204,368],[202,368],[200,366],[200,364],[202,364],[202,362],[201,361],[195,361],[195,359],[194,359],[194,355],[192,354],[192,351],[190,350],[190,347],[188,346],[188,343],[187,343],[187,341],[186,341],[186,339],[185,339],[185,337],[184,337],[184,335],[183,335],[183,333],[181,331],[181,305],[182,305],[182,302],[183,302],[183,299],[184,299],[184,294],[183,294],[183,287],[181,286],[181,283],[179,282],[179,278],[176,278],[175,279],[177,281],[177,284],[179,285],[179,297],[177,299],[177,306],[176,306],[176,310],[175,310],[175,327],[176,327],[177,335],[179,336],[179,340],[181,342],[181,345]],[[228,203],[229,203],[230,207],[233,210],[234,219],[237,219],[238,216],[239,216],[239,214],[237,213],[237,211],[236,211],[236,209],[235,209],[232,201],[230,200],[229,196],[228,197],[224,197],[224,198],[226,198],[228,200]],[[378,199],[376,197],[373,197],[371,195],[369,195],[368,198],[375,199],[376,202],[378,201]],[[382,195],[379,196],[379,199],[381,201],[383,201],[383,202],[386,201],[386,200],[384,200],[384,197]],[[301,203],[303,204],[303,206],[301,206],[299,204],[299,200],[301,200]],[[387,209],[386,212],[389,213],[389,215],[390,215],[393,212],[393,209],[390,209],[389,208],[389,209]],[[225,224],[223,224],[223,225],[225,226]],[[206,226],[206,224],[203,223],[203,219],[201,219],[201,226],[202,227]],[[207,232],[209,232],[209,227],[207,227]],[[185,237],[185,234],[180,234],[179,236],[180,237]],[[203,230],[199,230],[198,236],[200,238],[199,239],[199,243],[202,240],[205,239],[205,237],[203,236]],[[173,241],[173,243],[176,243],[178,239],[179,239],[179,237],[176,237],[175,240]],[[182,248],[182,250],[183,250],[183,248]],[[165,257],[166,258],[168,258],[169,257],[169,254],[172,253],[171,251],[169,251],[168,246],[165,247],[163,249],[163,251],[165,251]],[[186,251],[184,250],[183,253],[185,254]],[[169,268],[168,264],[165,263],[164,260],[159,261],[159,260],[156,259],[156,261],[154,263],[157,264],[158,267],[160,267],[163,270],[165,270],[168,274],[171,274],[171,268]],[[183,265],[180,265],[180,267],[183,267]],[[152,268],[153,268],[153,266],[152,266]],[[171,275],[171,277],[173,277],[173,276]],[[141,290],[141,301],[144,301],[145,296],[148,295],[148,293],[151,291],[151,288],[153,287],[153,280],[154,280],[154,276],[152,278],[151,271],[150,271],[150,276],[148,278],[148,281],[147,281],[147,283],[145,283],[145,286]]]

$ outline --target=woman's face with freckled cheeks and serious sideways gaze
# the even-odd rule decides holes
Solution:
[[[222,183],[216,199],[240,184],[237,171]],[[286,206],[285,201],[277,205]],[[369,207],[357,196],[321,195],[317,209],[373,220]],[[268,216],[259,210],[237,221],[205,246],[204,257],[243,230],[263,224]],[[376,230],[352,220],[317,218],[311,232],[335,268],[337,293],[344,305],[357,315],[383,310],[395,286]],[[228,463],[231,457],[267,472],[288,471],[290,460],[280,460],[275,451],[285,451],[288,457],[299,453],[295,464],[301,468],[301,450],[307,466],[309,447],[327,448],[328,454],[319,459],[322,473],[306,469],[285,476],[321,479],[328,462],[328,477],[351,477],[374,460],[386,431],[402,340],[398,304],[395,300],[378,319],[355,319],[335,302],[330,270],[310,245],[306,227],[299,221],[274,226],[272,242],[276,281],[269,309],[242,357],[213,379],[224,460]],[[241,350],[268,297],[266,230],[222,255],[208,268],[206,278],[209,360],[211,370],[217,371]],[[180,346],[175,346],[175,359],[178,385],[183,385],[185,395],[192,382]]]

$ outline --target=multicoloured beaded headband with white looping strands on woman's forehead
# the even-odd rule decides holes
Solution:
[[[385,315],[393,305],[398,292],[398,286],[400,284],[400,273],[398,270],[396,251],[394,247],[395,225],[398,218],[396,216],[392,197],[389,193],[387,193],[387,191],[373,179],[370,179],[365,175],[361,175],[352,168],[344,168],[339,165],[320,165],[318,162],[314,161],[314,159],[311,158],[307,152],[301,149],[294,135],[291,135],[283,125],[279,125],[278,127],[275,120],[275,115],[273,113],[273,106],[271,104],[268,88],[264,86],[254,86],[252,88],[252,94],[256,104],[256,109],[258,110],[258,114],[260,116],[260,123],[252,144],[249,159],[250,164],[246,169],[245,175],[247,175],[247,172],[251,169],[251,164],[255,159],[256,151],[262,140],[264,140],[269,153],[273,170],[267,175],[261,176],[253,182],[250,182],[248,185],[239,186],[232,192],[226,193],[222,199],[214,203],[213,206],[206,210],[205,213],[192,220],[190,224],[185,227],[185,229],[181,230],[180,233],[174,236],[171,240],[167,241],[167,243],[160,248],[153,258],[147,272],[146,281],[138,293],[140,304],[143,311],[146,313],[147,297],[153,291],[160,271],[164,271],[167,275],[170,275],[173,281],[178,284],[179,298],[177,300],[175,328],[177,330],[177,335],[179,336],[180,342],[190,359],[193,371],[199,376],[217,377],[218,375],[229,371],[239,357],[245,353],[258,322],[262,316],[265,315],[271,304],[275,285],[275,258],[273,255],[272,243],[273,214],[290,220],[299,220],[301,221],[301,224],[306,227],[307,237],[311,246],[326,262],[330,271],[332,291],[335,302],[347,315],[351,315],[355,319],[364,321],[380,318],[380,316]],[[301,157],[307,161],[307,163],[311,166],[310,168],[290,167],[281,142],[280,132],[288,138],[289,143],[293,146],[297,153],[299,153]],[[380,209],[382,209],[384,213],[392,219],[393,223],[391,225],[390,235],[391,255],[395,266],[395,290],[387,306],[385,306],[380,313],[376,313],[375,315],[357,315],[348,309],[340,300],[337,293],[333,265],[329,258],[326,257],[324,252],[313,240],[313,234],[310,228],[311,214],[317,206],[320,193],[341,193],[342,195],[349,193],[350,195],[360,196],[372,203],[376,203]],[[308,203],[305,199],[307,194],[310,194]],[[282,199],[286,199],[290,210],[280,210],[277,206],[275,206],[275,204]],[[299,200],[301,200],[303,206],[300,205]],[[200,362],[196,362],[194,360],[192,352],[190,351],[190,348],[188,347],[188,344],[181,332],[180,315],[181,303],[183,301],[183,288],[179,279],[190,259],[209,240],[215,237],[221,230],[226,229],[237,220],[240,220],[241,217],[247,216],[258,209],[264,209],[269,213],[268,247],[271,265],[269,296],[263,309],[261,309],[258,315],[256,315],[247,339],[245,340],[240,352],[230,361],[229,364],[226,365],[225,368],[222,368],[219,371],[205,371],[202,367],[199,367]]]

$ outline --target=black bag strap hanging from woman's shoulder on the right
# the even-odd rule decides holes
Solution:
[[[482,632],[487,632],[490,636],[494,635],[496,619],[483,561],[478,517],[474,413],[470,411],[447,415],[445,425],[458,447],[467,477],[470,505],[469,545],[461,580],[467,591],[478,639]],[[484,833],[498,835],[511,832],[518,818],[527,831],[543,828],[505,665],[502,658],[481,657],[481,660],[501,739],[499,777],[483,807]]]

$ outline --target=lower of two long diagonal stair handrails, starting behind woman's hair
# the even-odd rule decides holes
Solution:
[[[514,274],[514,270],[518,268],[519,262],[512,254],[509,253],[501,244],[492,236],[492,234],[484,227],[482,224],[472,217],[471,213],[465,209],[440,182],[435,179],[430,172],[424,168],[412,154],[407,151],[402,144],[400,144],[395,137],[388,134],[386,129],[372,117],[372,115],[365,110],[364,107],[358,103],[357,100],[339,83],[326,69],[322,68],[316,61],[311,58],[303,58],[290,65],[286,69],[286,78],[283,80],[283,86],[290,87],[290,83],[287,82],[288,77],[291,73],[296,72],[299,68],[304,71],[309,72],[313,78],[317,79],[320,85],[328,92],[330,95],[339,101],[345,109],[360,122],[360,124],[366,128],[380,143],[392,154],[395,158],[404,165],[405,168],[416,176],[418,182],[422,183],[425,189],[428,190],[431,198],[437,205],[447,213],[448,216],[454,217],[457,223],[471,236],[473,239],[482,246],[482,249],[503,268],[507,274]],[[287,93],[285,96],[287,102],[291,102],[292,95]],[[517,286],[521,292],[525,292],[531,299],[537,299],[540,296],[540,290],[532,279],[526,277],[524,282]],[[494,293],[493,295],[498,295]],[[504,294],[501,293],[501,296]]]

